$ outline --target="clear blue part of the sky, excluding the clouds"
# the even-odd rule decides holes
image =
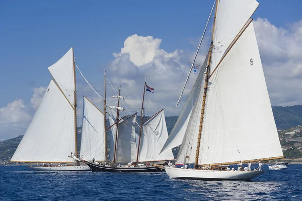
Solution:
[[[301,1],[290,1],[290,4],[286,1],[258,2],[260,6],[253,17],[255,20],[267,19],[257,20],[258,24],[268,23],[280,33],[285,30],[287,32],[280,37],[290,35],[293,44],[301,43],[302,31],[294,28],[297,25],[295,23],[301,20]],[[46,87],[51,79],[47,67],[56,62],[71,46],[74,47],[74,56],[81,71],[99,89],[102,89],[102,74],[105,68],[109,69],[109,78],[116,74],[115,71],[110,71],[116,58],[113,53],[121,52],[125,40],[133,34],[161,39],[159,48],[168,53],[173,53],[176,49],[183,50],[182,61],[189,68],[190,55],[195,51],[196,39],[203,32],[212,4],[212,0],[2,1],[0,111],[16,99],[22,99],[25,108],[29,106],[34,89]],[[257,34],[256,28],[255,31]],[[263,60],[265,47],[259,44],[259,49]],[[301,60],[293,59],[292,62],[299,66]],[[263,64],[264,69],[266,65],[268,63]],[[299,77],[294,79],[299,81]],[[156,82],[152,82],[152,75],[148,75],[148,80],[153,84],[151,87],[155,87]],[[117,84],[114,81],[113,83]],[[294,84],[290,86],[292,85]],[[270,88],[269,83],[268,89],[272,93],[278,92],[277,89]],[[179,91],[176,88],[175,90]],[[297,96],[295,93],[286,96],[292,97],[293,100],[273,101],[271,97],[272,104],[302,104],[302,98],[294,99]],[[29,120],[25,124],[30,122],[34,113],[31,109],[27,112]],[[5,126],[4,124],[2,122],[2,126]],[[18,136],[17,132],[14,133]]]

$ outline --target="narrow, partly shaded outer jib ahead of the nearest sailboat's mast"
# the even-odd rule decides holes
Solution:
[[[179,146],[183,141],[189,123],[189,119],[192,113],[193,104],[195,103],[196,98],[198,97],[197,95],[199,94],[200,84],[202,83],[203,74],[206,69],[204,68],[204,66],[206,66],[206,62],[207,62],[207,57],[203,62],[202,67],[200,67],[200,73],[195,81],[191,93],[169,135],[169,138],[167,139],[165,145],[163,146],[161,153]]]

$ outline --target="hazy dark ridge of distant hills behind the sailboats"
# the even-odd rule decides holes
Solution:
[[[274,113],[274,118],[276,122],[276,126],[278,129],[284,130],[293,126],[297,126],[302,124],[302,105],[294,105],[288,107],[281,107],[281,106],[272,106],[272,110]],[[148,117],[144,117],[147,119]],[[177,121],[178,116],[166,116],[166,123],[168,133],[171,132],[174,124]],[[140,124],[140,117],[137,116],[137,123]],[[109,121],[107,119],[107,125],[109,125]],[[81,138],[82,138],[82,127],[78,127],[78,150],[80,150],[81,146]],[[110,133],[111,130],[108,130]],[[136,130],[139,133],[138,130]],[[23,136],[18,136],[17,138],[13,138],[7,141],[0,142],[0,160],[8,160],[11,158],[17,149],[21,139]],[[107,146],[109,148],[110,145],[110,137],[107,135]],[[177,154],[178,149],[173,150],[173,154]]]

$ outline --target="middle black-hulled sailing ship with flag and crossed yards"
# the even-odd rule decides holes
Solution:
[[[111,140],[113,141],[110,146],[110,159],[112,159],[112,163],[102,164],[83,160],[92,171],[160,172],[163,171],[162,167],[145,165],[143,162],[154,163],[174,159],[171,149],[160,154],[164,142],[168,139],[164,110],[160,110],[146,121],[142,119],[145,88],[146,81],[144,83],[138,145],[136,140],[137,134],[135,132],[137,113],[125,119],[119,119],[119,111],[124,110],[119,105],[120,99],[124,99],[124,97],[120,96],[119,88],[118,96],[114,96],[118,98],[117,106],[109,106],[109,108],[117,109],[115,123],[113,123],[114,115],[112,112],[109,112],[109,121],[113,123],[110,126],[112,131]]]

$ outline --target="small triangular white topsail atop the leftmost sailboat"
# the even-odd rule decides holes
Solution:
[[[49,72],[67,97],[71,105],[74,99],[74,68],[73,48],[60,58],[56,63],[48,67]]]

